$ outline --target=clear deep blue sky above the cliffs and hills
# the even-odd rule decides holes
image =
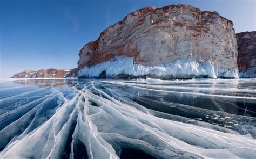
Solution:
[[[0,1],[0,78],[23,70],[75,68],[78,53],[106,27],[145,6],[190,4],[218,11],[236,32],[256,30],[256,0]]]

